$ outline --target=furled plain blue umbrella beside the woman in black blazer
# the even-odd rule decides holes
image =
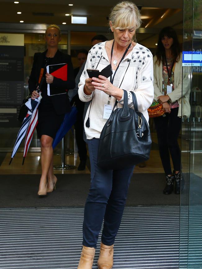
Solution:
[[[62,138],[67,134],[72,125],[76,122],[76,107],[71,107],[71,111],[65,114],[64,120],[60,125],[60,129],[57,131],[55,139],[53,140],[52,147],[53,149],[57,146],[57,144],[62,140]]]

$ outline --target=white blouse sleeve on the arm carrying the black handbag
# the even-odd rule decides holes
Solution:
[[[132,95],[128,91],[128,106],[133,107]],[[149,108],[154,100],[153,86],[153,57],[148,58],[144,66],[137,71],[136,89],[133,90],[137,99],[138,110],[143,112]],[[123,96],[119,103],[123,104]]]

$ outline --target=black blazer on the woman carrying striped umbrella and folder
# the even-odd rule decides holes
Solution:
[[[34,54],[34,62],[33,62],[32,70],[31,70],[30,78],[28,80],[30,93],[36,90],[37,83],[39,80],[40,70],[41,68],[44,67],[43,63],[44,63],[46,52],[47,50],[42,53],[37,52]],[[74,79],[74,70],[71,63],[71,56],[57,50],[54,57],[54,64],[60,64],[60,63],[67,63],[67,81],[54,77],[53,86],[55,86],[56,88],[58,87],[60,89],[62,88],[64,90],[74,89],[75,79]],[[61,115],[70,111],[71,106],[70,106],[67,93],[52,95],[50,97],[51,97],[55,112],[58,115]]]

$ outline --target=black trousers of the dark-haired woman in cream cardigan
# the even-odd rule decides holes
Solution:
[[[181,170],[181,151],[178,144],[178,135],[181,130],[181,118],[177,116],[178,107],[172,108],[166,116],[154,118],[156,127],[159,153],[166,175],[172,174],[170,155],[175,171]],[[170,154],[169,154],[170,153]]]

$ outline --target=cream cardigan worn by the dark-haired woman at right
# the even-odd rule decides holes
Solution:
[[[154,56],[154,101],[157,102],[157,98],[159,95],[162,95],[162,77],[163,77],[163,66],[162,62],[160,66],[156,63],[157,57]],[[191,113],[191,107],[189,103],[189,96],[191,90],[191,68],[183,67],[182,73],[182,54],[180,55],[179,62],[175,64],[174,70],[174,90],[172,93],[168,93],[171,102],[178,101],[179,103],[179,111],[178,117],[186,116],[189,117]],[[183,83],[182,83],[183,80]],[[183,100],[183,101],[182,101]]]

